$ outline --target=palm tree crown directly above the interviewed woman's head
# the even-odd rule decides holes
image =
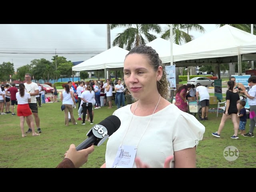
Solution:
[[[134,46],[146,44],[146,40],[151,42],[157,37],[149,32],[161,33],[161,26],[159,24],[110,24],[110,30],[117,27],[126,27],[122,33],[118,33],[118,36],[113,41],[113,46],[118,45],[120,48],[131,50]],[[146,40],[143,38],[145,36]]]

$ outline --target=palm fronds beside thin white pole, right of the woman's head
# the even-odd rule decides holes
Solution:
[[[185,30],[187,32],[185,32]],[[188,34],[189,31],[196,30],[199,32],[204,33],[205,29],[199,24],[172,24],[172,33],[174,43],[180,45],[182,41],[185,43],[194,40],[194,36]],[[167,24],[167,28],[165,29],[164,33],[162,34],[161,38],[168,40],[170,38],[170,25]]]

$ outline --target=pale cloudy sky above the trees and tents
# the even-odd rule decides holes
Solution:
[[[206,33],[215,24],[200,24]],[[161,24],[164,28],[166,24]],[[124,28],[111,30],[111,42]],[[203,34],[190,32],[194,38]],[[160,36],[157,35],[156,36]],[[0,24],[0,64],[15,70],[33,59],[52,59],[55,52],[71,62],[85,61],[106,50],[106,24]]]

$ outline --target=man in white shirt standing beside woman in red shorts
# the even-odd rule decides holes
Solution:
[[[31,81],[31,77],[32,77],[31,74],[29,73],[25,74],[26,83],[24,83],[24,85],[25,85],[26,91],[31,96],[31,102],[28,104],[35,118],[37,132],[42,133],[40,128],[40,118],[38,116],[38,107],[37,107],[37,101],[36,101],[36,96],[39,95],[39,89],[38,89],[38,85]],[[26,118],[26,122],[28,124],[28,131],[26,133],[32,133],[32,129],[30,127],[30,121],[28,120],[28,118]]]

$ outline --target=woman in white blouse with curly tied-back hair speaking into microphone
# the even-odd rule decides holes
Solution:
[[[145,45],[132,48],[124,60],[124,82],[136,102],[113,113],[121,126],[108,139],[101,167],[136,168],[140,162],[139,167],[164,168],[173,156],[171,168],[195,168],[205,127],[166,100],[168,81],[158,53]]]

